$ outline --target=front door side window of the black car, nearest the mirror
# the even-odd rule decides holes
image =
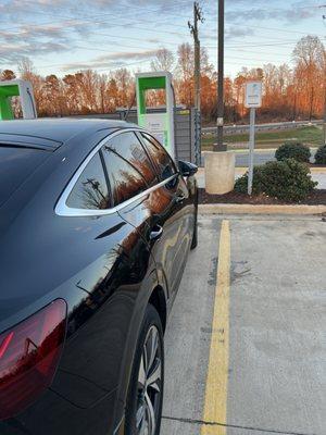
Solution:
[[[141,133],[141,138],[152,161],[158,167],[160,179],[164,181],[166,178],[170,178],[172,175],[175,175],[177,171],[175,169],[173,160],[162,147],[162,145],[147,133]]]

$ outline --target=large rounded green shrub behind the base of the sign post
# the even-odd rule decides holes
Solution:
[[[317,183],[311,179],[310,169],[294,159],[267,162],[253,171],[254,195],[265,194],[283,201],[300,202],[313,191]],[[248,173],[237,179],[235,190],[246,194]]]

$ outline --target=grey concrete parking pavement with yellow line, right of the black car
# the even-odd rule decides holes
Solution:
[[[326,223],[199,225],[166,332],[162,435],[326,434]]]

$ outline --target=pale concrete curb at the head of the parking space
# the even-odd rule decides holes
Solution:
[[[326,213],[326,206],[199,204],[200,214],[291,214]]]

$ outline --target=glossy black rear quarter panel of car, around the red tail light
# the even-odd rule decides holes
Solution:
[[[57,164],[39,170],[48,171],[48,177],[35,174],[30,186],[5,204],[0,331],[55,298],[67,301],[68,320],[51,388],[34,406],[0,423],[1,435],[106,435],[122,418],[124,403],[118,399],[124,394],[117,395],[117,387],[127,385],[122,376],[128,375],[125,368],[131,365],[143,304],[156,285],[156,273],[139,233],[117,213],[55,215],[55,201],[72,169],[89,151],[82,148],[78,156],[60,151]],[[17,212],[13,203],[25,198],[28,188],[34,195]]]

